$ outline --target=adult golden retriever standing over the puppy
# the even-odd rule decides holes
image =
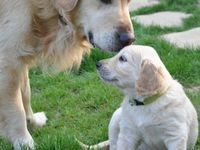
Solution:
[[[43,126],[30,105],[28,70],[79,66],[91,45],[120,50],[134,40],[129,0],[0,0],[0,130],[13,144],[34,147],[27,130]]]

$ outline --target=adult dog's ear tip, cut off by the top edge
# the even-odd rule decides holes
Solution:
[[[56,0],[56,3],[63,8],[64,11],[70,12],[76,7],[78,0]]]

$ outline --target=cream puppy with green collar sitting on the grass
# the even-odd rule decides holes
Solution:
[[[152,47],[128,46],[100,61],[97,68],[101,78],[119,87],[125,98],[110,121],[109,142],[95,147],[109,143],[110,150],[194,148],[196,110]]]

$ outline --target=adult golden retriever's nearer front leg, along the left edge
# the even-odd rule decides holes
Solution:
[[[21,72],[16,66],[0,68],[0,131],[12,142],[15,150],[34,147],[28,132],[21,95]]]

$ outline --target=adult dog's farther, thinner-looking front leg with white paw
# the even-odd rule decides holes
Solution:
[[[23,76],[23,83],[22,83],[22,100],[24,109],[26,112],[26,119],[27,122],[33,127],[42,127],[46,124],[47,117],[45,116],[44,112],[38,112],[33,114],[33,110],[31,108],[31,90],[30,90],[30,83],[28,77],[28,68],[25,70],[25,74]]]

